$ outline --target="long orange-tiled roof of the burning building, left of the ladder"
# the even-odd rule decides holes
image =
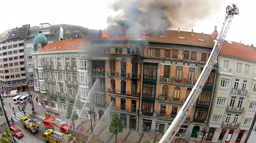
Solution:
[[[151,31],[154,31],[154,30],[151,30]],[[111,40],[111,41],[113,41],[113,40],[143,40],[143,41],[149,41],[149,42],[180,43],[180,44],[208,46],[208,47],[214,46],[214,42],[213,42],[214,39],[209,34],[194,33],[194,32],[192,33],[192,32],[186,32],[186,31],[179,32],[179,31],[174,31],[174,30],[165,30],[159,34],[149,33],[148,36],[144,36],[143,38],[140,38],[140,37],[97,37],[93,41],[102,41],[102,40]]]

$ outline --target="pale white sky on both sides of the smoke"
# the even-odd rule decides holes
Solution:
[[[205,1],[211,0],[202,0],[202,5]],[[226,39],[256,46],[256,26],[254,26],[256,16],[253,15],[256,1],[214,1],[218,3],[217,8],[210,10],[210,15],[207,18],[198,20],[189,29],[184,29],[181,24],[169,30],[178,30],[178,27],[180,27],[182,31],[191,31],[193,28],[193,31],[197,33],[211,34],[216,25],[217,30],[220,31],[224,22],[225,7],[238,3],[237,7],[240,14],[235,15]],[[23,24],[39,26],[40,23],[50,23],[51,25],[73,24],[89,29],[105,29],[108,26],[106,23],[108,16],[117,14],[109,9],[110,2],[111,0],[1,0],[0,33],[16,26],[21,27]],[[198,8],[200,8],[200,5]],[[193,11],[191,12],[193,13]]]

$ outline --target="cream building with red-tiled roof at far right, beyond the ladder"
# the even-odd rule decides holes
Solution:
[[[245,142],[256,107],[255,55],[252,46],[224,41],[218,56],[208,141]]]

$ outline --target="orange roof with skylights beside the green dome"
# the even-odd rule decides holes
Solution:
[[[59,40],[45,45],[44,48],[39,50],[37,53],[84,50],[91,44],[93,39],[95,39],[95,37],[75,38],[72,41],[70,41],[70,39]]]

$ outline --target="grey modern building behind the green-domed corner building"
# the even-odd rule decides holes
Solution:
[[[33,91],[34,86],[34,74],[32,69],[32,53],[33,53],[33,40],[39,31],[45,35],[47,43],[52,43],[63,39],[63,28],[61,26],[51,26],[49,23],[40,24],[39,28],[28,29],[28,33],[24,38],[24,57],[26,64],[26,78],[29,91]]]

